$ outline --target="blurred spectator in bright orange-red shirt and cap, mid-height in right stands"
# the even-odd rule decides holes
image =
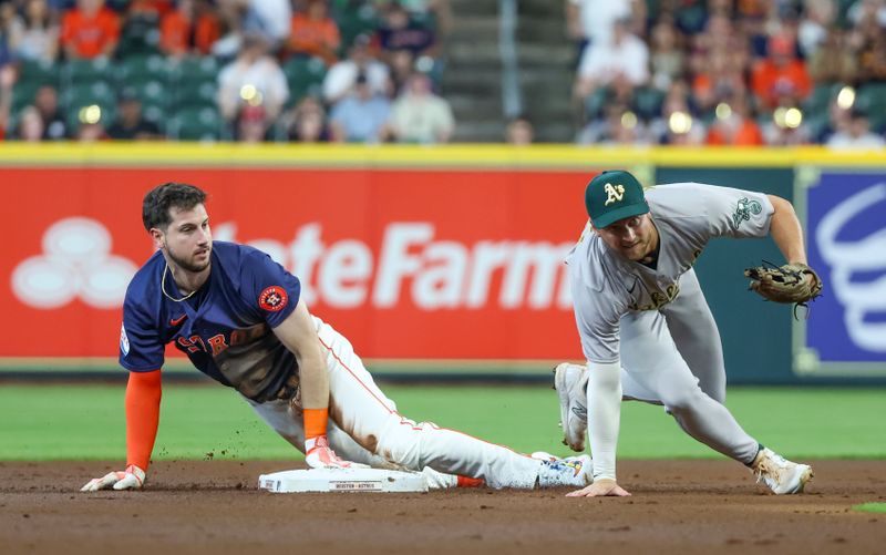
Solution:
[[[812,90],[806,65],[794,55],[794,44],[784,37],[769,41],[769,56],[753,70],[752,86],[758,100],[767,107],[779,103],[779,96],[805,99]]]

